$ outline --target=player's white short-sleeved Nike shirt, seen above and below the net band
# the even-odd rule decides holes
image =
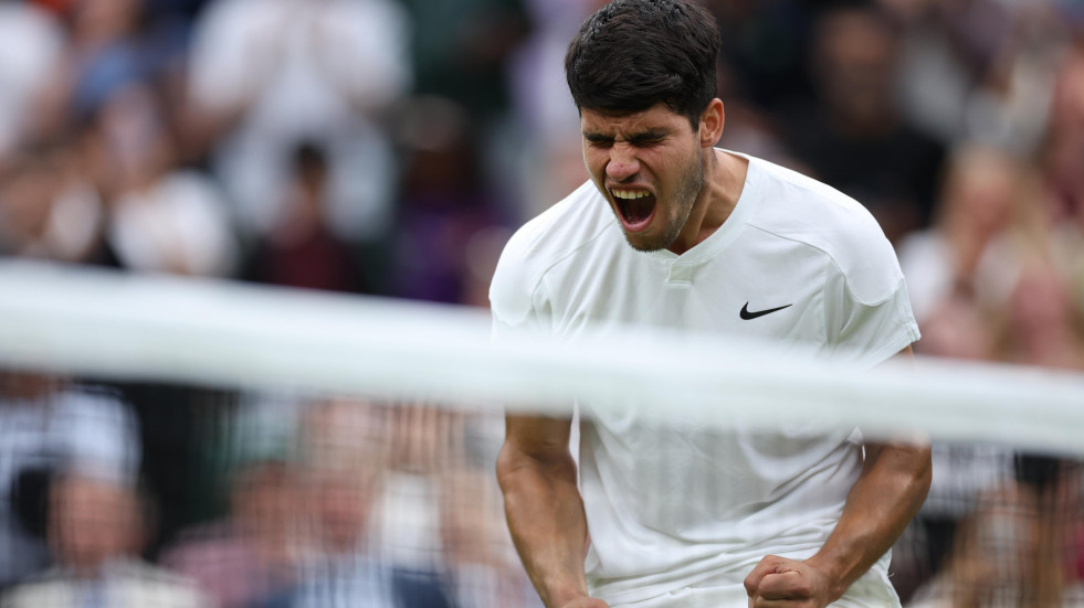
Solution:
[[[733,213],[682,255],[630,247],[591,182],[527,223],[490,289],[496,339],[648,324],[801,344],[864,366],[917,340],[903,274],[873,216],[822,183],[743,158]],[[740,584],[765,555],[812,555],[862,468],[853,428],[661,428],[635,404],[624,414],[580,406],[586,568],[592,594],[610,602]],[[883,577],[886,564],[871,575]]]

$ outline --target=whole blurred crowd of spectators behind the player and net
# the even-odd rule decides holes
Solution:
[[[918,352],[1084,371],[1084,4],[703,1],[720,146],[874,213]],[[562,61],[601,3],[0,0],[0,255],[486,306],[511,232],[587,179]],[[6,608],[537,601],[499,420],[0,380]],[[1081,510],[1075,462],[935,446],[894,580],[1084,605]]]

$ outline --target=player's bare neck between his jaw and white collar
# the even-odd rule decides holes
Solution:
[[[715,233],[726,222],[738,204],[749,161],[708,148],[704,157],[704,188],[701,189],[693,211],[677,239],[669,249],[684,254]]]

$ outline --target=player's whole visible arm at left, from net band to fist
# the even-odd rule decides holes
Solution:
[[[587,518],[570,429],[567,418],[508,416],[497,480],[512,538],[547,608],[607,608],[587,593]]]

